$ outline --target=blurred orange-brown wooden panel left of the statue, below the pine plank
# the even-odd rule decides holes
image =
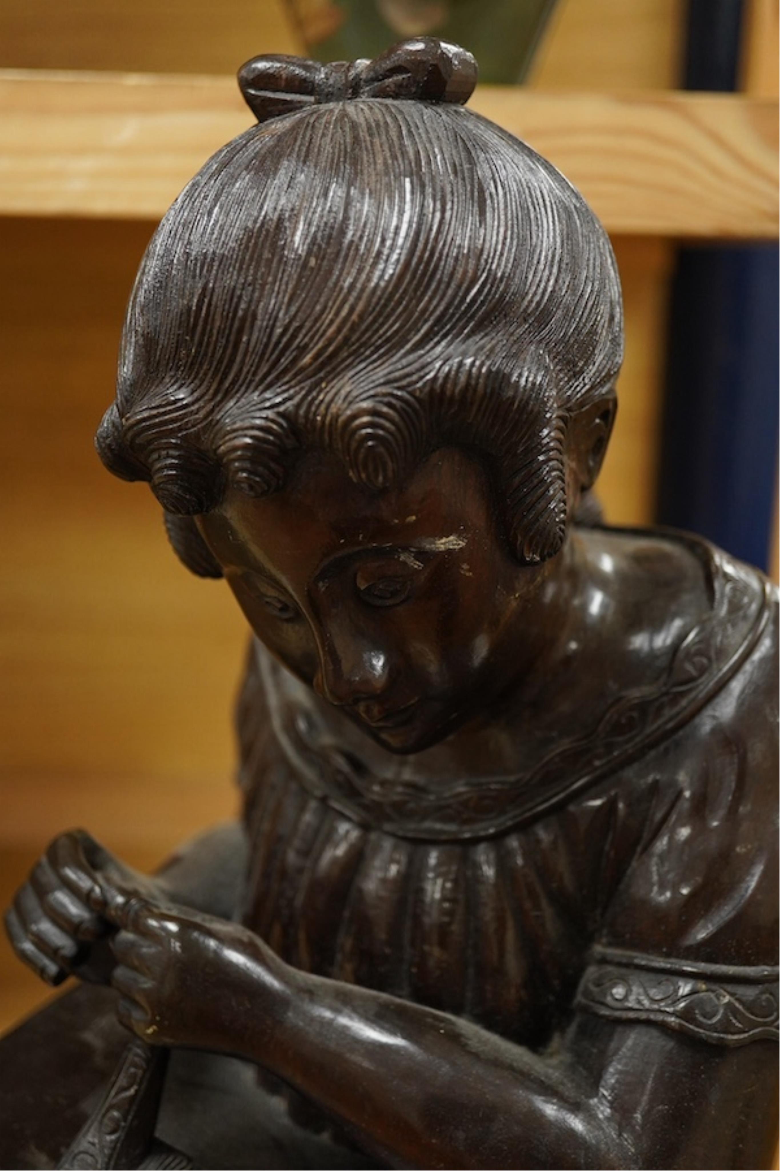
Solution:
[[[229,816],[244,623],[92,434],[151,224],[0,220],[0,903],[83,824],[144,869]],[[0,1028],[46,995],[0,945]]]

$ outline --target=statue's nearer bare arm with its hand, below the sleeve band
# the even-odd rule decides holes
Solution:
[[[265,1067],[391,1166],[757,1166],[734,1125],[757,1107],[771,1155],[769,1042],[727,1052],[582,1013],[536,1054],[291,968],[237,924],[105,897],[130,1028]]]

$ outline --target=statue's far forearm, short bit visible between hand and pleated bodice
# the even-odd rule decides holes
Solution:
[[[172,902],[232,919],[243,892],[247,856],[243,826],[226,822],[180,847],[156,878]]]

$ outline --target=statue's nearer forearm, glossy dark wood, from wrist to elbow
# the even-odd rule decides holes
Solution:
[[[635,1165],[585,1076],[457,1018],[295,973],[270,1043],[268,1020],[258,1025],[243,1055],[392,1164]]]

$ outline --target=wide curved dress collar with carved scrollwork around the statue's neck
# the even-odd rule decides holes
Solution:
[[[623,530],[627,534],[631,530]],[[504,834],[623,767],[672,735],[739,670],[768,614],[768,583],[707,542],[685,543],[709,576],[709,612],[679,641],[661,677],[610,703],[585,735],[561,738],[526,772],[456,775],[429,754],[374,748],[256,643],[272,731],[310,795],[396,837],[468,841]]]

